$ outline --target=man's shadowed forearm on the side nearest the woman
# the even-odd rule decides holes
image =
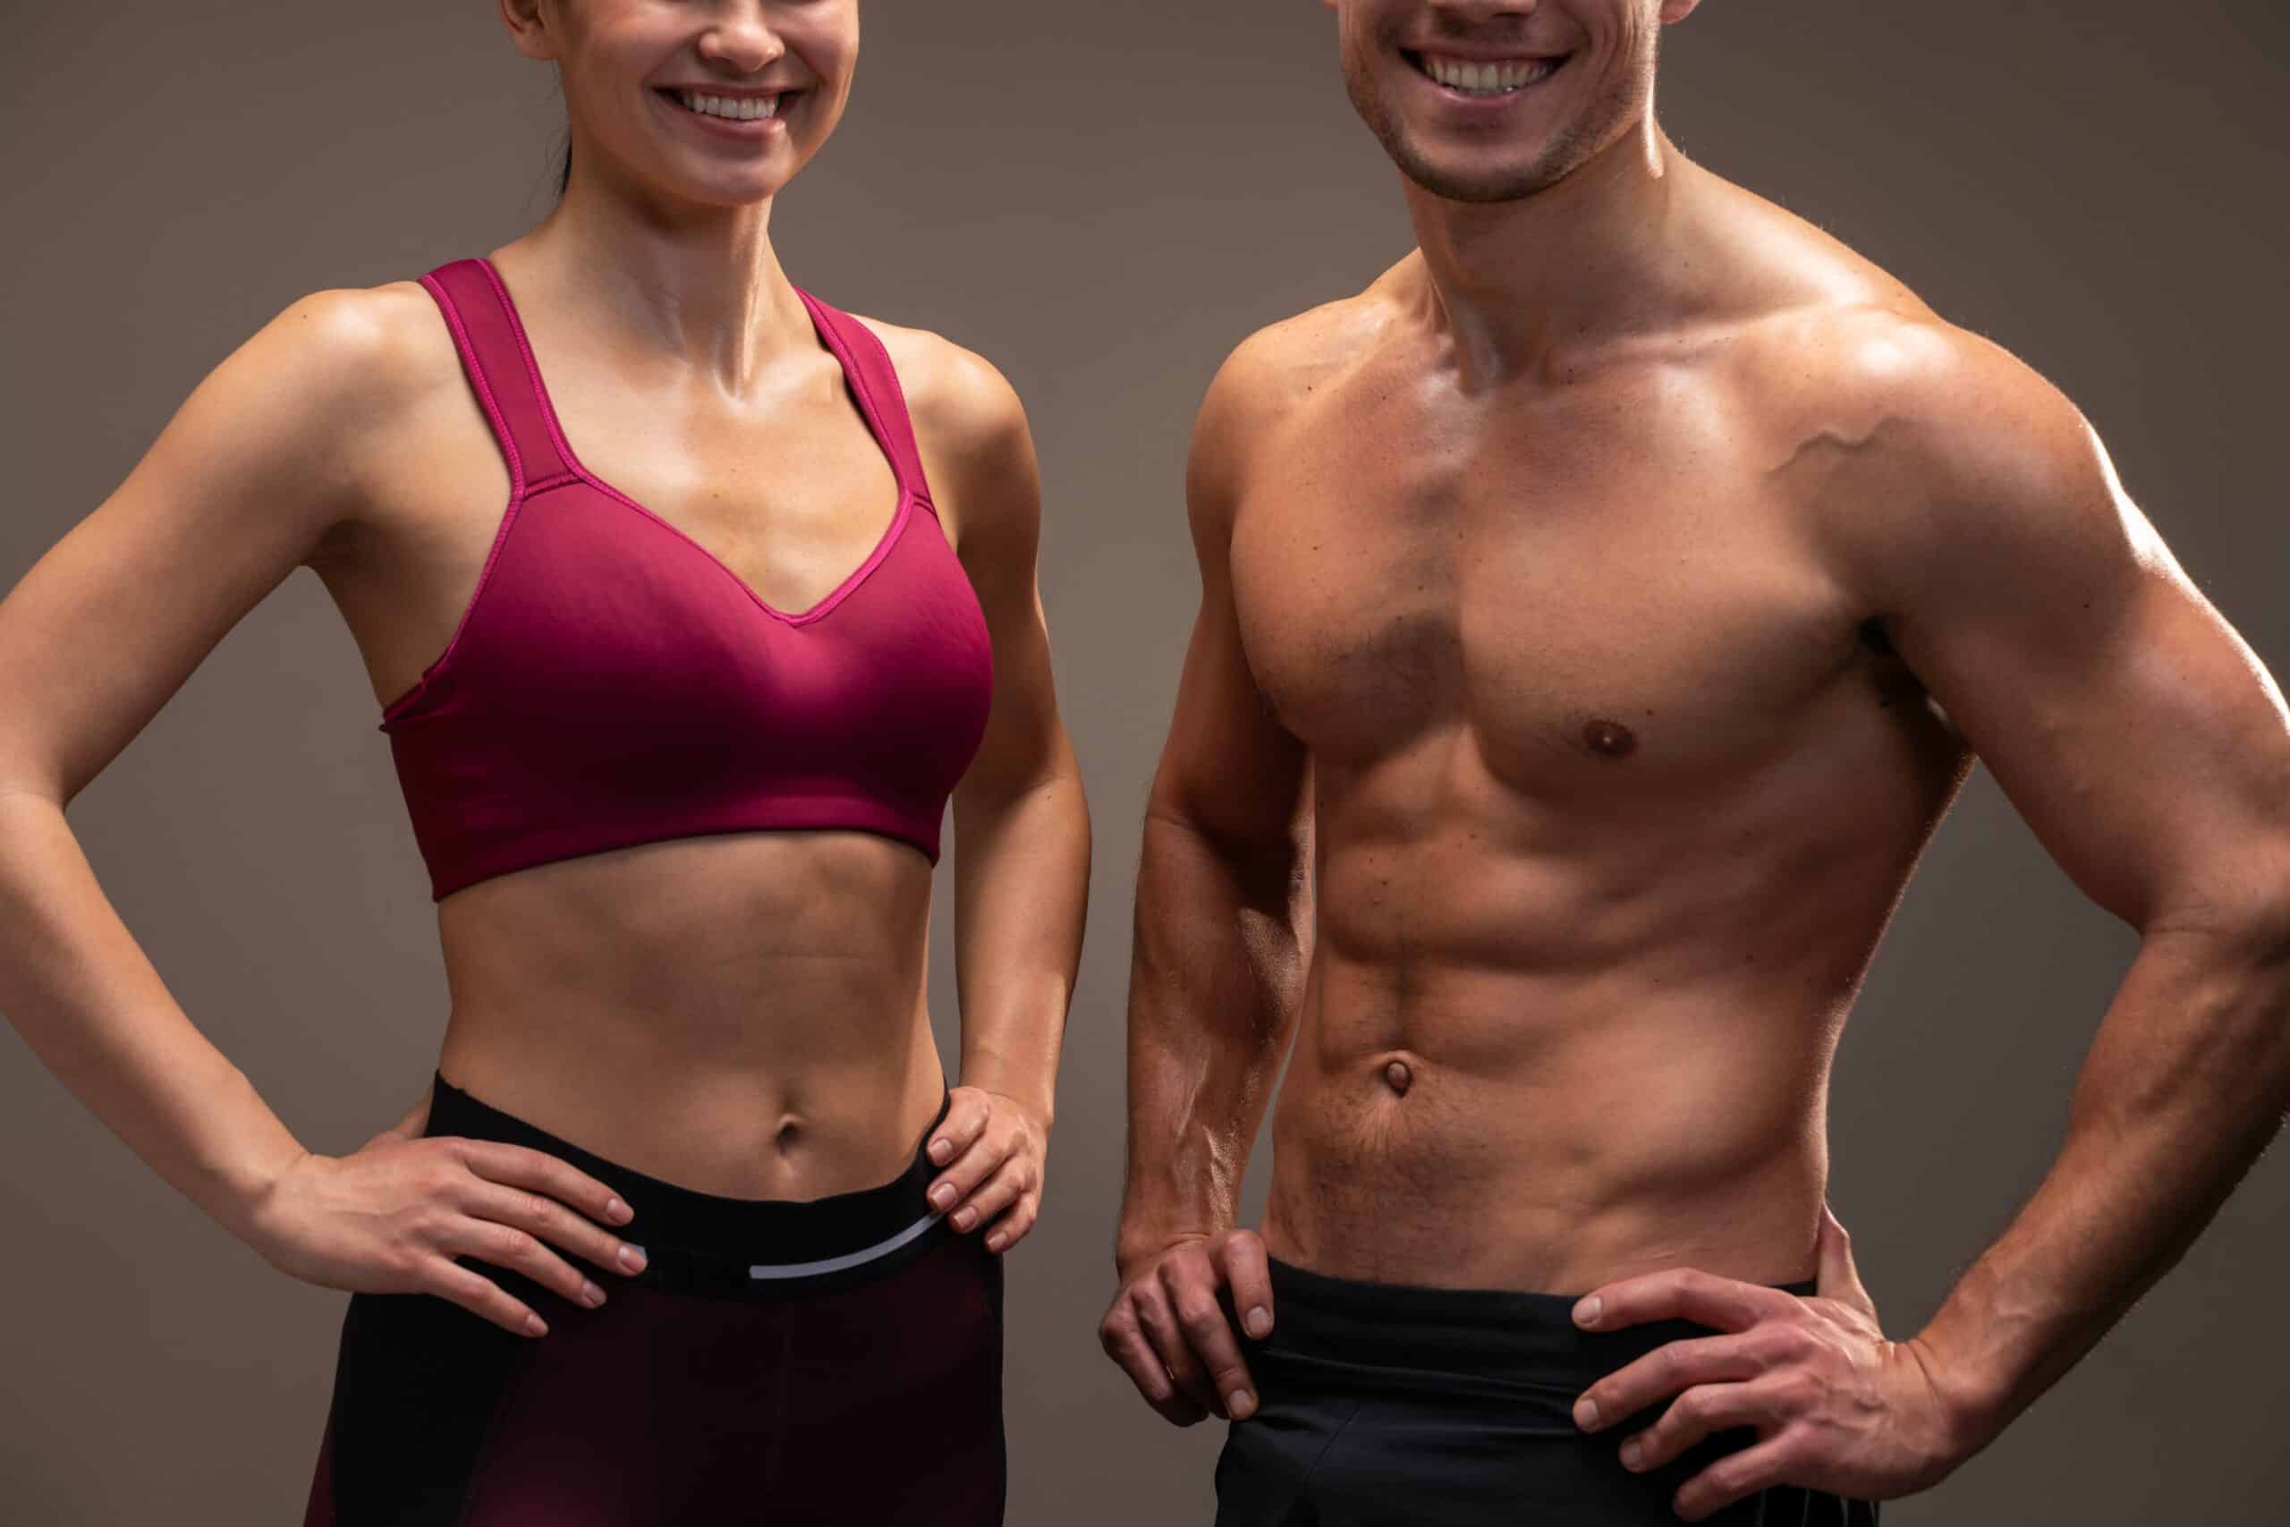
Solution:
[[[1227,1229],[1296,1030],[1305,854],[1214,840],[1147,815],[1129,975],[1129,1172],[1113,1257],[1127,1273]]]

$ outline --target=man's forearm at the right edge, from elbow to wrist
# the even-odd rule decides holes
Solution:
[[[2107,1010],[2068,1142],[1917,1337],[1985,1447],[2171,1268],[2290,1106],[2290,946],[2150,929]]]

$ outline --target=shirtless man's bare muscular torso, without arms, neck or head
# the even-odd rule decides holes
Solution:
[[[1814,1271],[1832,1049],[1969,755],[1821,552],[1850,504],[1805,460],[1850,426],[1798,362],[1930,314],[1697,195],[1695,323],[1466,389],[1411,256],[1282,339],[1232,529],[1248,666],[1312,758],[1276,1257]]]

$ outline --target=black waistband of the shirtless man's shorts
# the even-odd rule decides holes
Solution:
[[[1376,1387],[1418,1376],[1472,1376],[1516,1385],[1585,1387],[1667,1342],[1711,1335],[1695,1321],[1582,1330],[1573,1307],[1589,1293],[1436,1289],[1314,1273],[1269,1257],[1273,1358],[1294,1355],[1356,1374]],[[1809,1296],[1814,1282],[1770,1284]],[[1250,1358],[1253,1362],[1255,1358]]]

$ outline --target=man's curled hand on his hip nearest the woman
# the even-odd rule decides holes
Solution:
[[[1209,1413],[1241,1422],[1257,1408],[1241,1344],[1216,1303],[1221,1289],[1232,1289],[1248,1335],[1264,1339],[1273,1328],[1273,1280],[1257,1232],[1177,1241],[1136,1268],[1097,1323],[1106,1355],[1177,1426]]]

